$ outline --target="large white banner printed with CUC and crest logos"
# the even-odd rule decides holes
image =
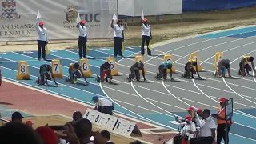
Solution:
[[[110,28],[116,0],[2,0],[0,41],[36,40],[35,22],[40,21],[51,39],[77,39],[77,18],[86,21],[88,38],[113,38]]]

